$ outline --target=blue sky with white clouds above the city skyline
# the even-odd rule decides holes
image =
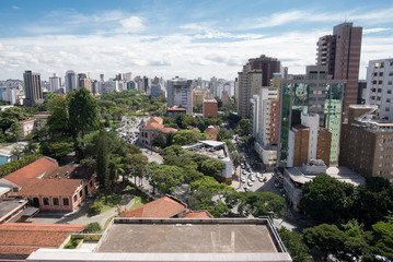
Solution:
[[[392,13],[392,0],[0,0],[0,80],[25,70],[234,80],[261,55],[300,74],[343,22],[363,27],[366,79],[369,60],[393,58]]]

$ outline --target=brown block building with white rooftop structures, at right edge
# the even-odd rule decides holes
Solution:
[[[378,117],[377,105],[352,105],[343,123],[339,165],[366,177],[383,177],[393,182],[392,121]]]

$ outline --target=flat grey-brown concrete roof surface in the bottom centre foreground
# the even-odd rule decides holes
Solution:
[[[106,235],[106,236],[105,236]],[[96,252],[277,253],[269,226],[258,219],[117,219]]]

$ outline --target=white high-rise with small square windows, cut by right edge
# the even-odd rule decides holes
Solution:
[[[393,59],[369,61],[366,105],[377,105],[378,116],[393,122]],[[392,109],[391,109],[392,108]]]

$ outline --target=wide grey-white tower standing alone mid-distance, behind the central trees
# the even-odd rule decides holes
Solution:
[[[186,109],[187,115],[193,115],[193,80],[178,76],[166,82],[166,106],[178,106]]]

